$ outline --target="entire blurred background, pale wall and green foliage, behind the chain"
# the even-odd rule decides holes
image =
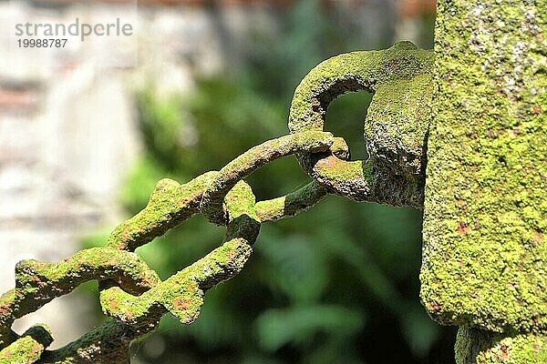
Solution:
[[[433,0],[0,1],[0,290],[18,260],[101,245],[160,177],[218,169],[286,131],[294,87],[329,56],[411,40],[431,47]],[[30,22],[129,16],[122,46],[15,52]],[[113,56],[114,55],[114,56]],[[105,62],[114,59],[115,62]],[[370,96],[343,96],[327,128],[366,157]],[[294,159],[249,178],[259,199],[303,186]],[[420,307],[421,213],[328,197],[263,227],[243,274],[208,293],[190,328],[165,318],[134,363],[451,363],[454,331]],[[162,278],[222,239],[194,217],[138,250]],[[59,347],[101,320],[88,284],[16,322]]]

